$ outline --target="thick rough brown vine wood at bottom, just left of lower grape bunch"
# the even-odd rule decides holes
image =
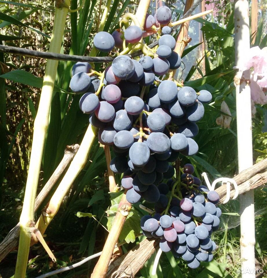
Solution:
[[[132,250],[127,252],[121,257],[118,257],[113,261],[107,272],[107,278],[111,278],[112,274],[117,270],[123,270],[126,273],[135,274],[143,267],[145,262],[152,256],[159,246],[159,239],[145,239],[135,246]],[[116,277],[125,277],[124,273],[121,273]]]

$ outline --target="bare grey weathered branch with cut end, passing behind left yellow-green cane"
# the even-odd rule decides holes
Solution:
[[[43,202],[49,191],[52,189],[60,175],[65,171],[71,160],[73,159],[74,155],[79,149],[79,145],[71,145],[67,146],[65,149],[65,154],[54,171],[51,175],[51,178],[47,181],[43,189],[40,191],[38,196],[35,199],[34,204],[34,211],[36,211],[40,204]],[[8,233],[8,235],[3,239],[0,243],[0,261],[2,261],[8,253],[14,250],[19,244],[19,223]]]

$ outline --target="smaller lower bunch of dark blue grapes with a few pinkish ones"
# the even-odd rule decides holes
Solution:
[[[169,198],[166,195],[172,197],[170,187],[176,184],[172,179],[169,184],[160,184],[161,197],[155,204],[156,213],[153,217],[143,216],[140,225],[146,237],[161,239],[159,246],[163,252],[171,251],[174,257],[182,257],[190,268],[197,268],[200,261],[213,259],[216,244],[211,240],[211,233],[219,228],[222,212],[216,207],[218,193],[209,191],[192,175],[193,165],[186,164],[184,172],[181,175],[183,188],[178,194],[181,200],[174,197],[167,207]]]

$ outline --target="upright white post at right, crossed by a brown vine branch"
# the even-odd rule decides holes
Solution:
[[[242,63],[250,49],[249,6],[247,0],[235,0],[235,63],[239,71],[235,76],[237,147],[239,172],[253,165],[251,96],[248,80],[250,70],[242,72]],[[242,278],[255,277],[255,222],[254,193],[240,195],[240,250]]]

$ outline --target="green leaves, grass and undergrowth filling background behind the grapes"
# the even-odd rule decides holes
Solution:
[[[206,1],[207,2],[207,1]],[[215,1],[216,2],[216,1]],[[68,15],[65,38],[62,41],[61,53],[89,55],[93,35],[97,32],[100,2],[85,1],[84,7]],[[181,10],[173,8],[173,18],[179,17]],[[260,5],[266,5],[263,1]],[[152,2],[151,7],[154,5]],[[79,6],[77,0],[71,2],[71,8]],[[118,28],[119,17],[125,12],[134,12],[135,1],[114,0],[104,30],[112,32]],[[183,9],[179,7],[179,9]],[[182,76],[188,86],[197,90],[207,89],[213,95],[213,105],[205,105],[205,116],[198,123],[199,134],[196,141],[199,153],[189,158],[196,166],[196,174],[200,177],[206,171],[211,180],[219,176],[233,177],[237,173],[237,140],[235,121],[235,90],[233,86],[234,39],[233,39],[233,2],[222,5],[225,17],[207,17],[196,19],[202,24],[205,37],[205,54],[198,57],[192,50],[199,41],[192,41],[184,52],[183,61],[194,59],[188,74]],[[152,12],[153,9],[150,8]],[[0,1],[0,41],[1,44],[19,46],[33,50],[48,51],[51,35],[54,1]],[[254,45],[266,46],[266,11],[262,11],[258,32]],[[198,32],[198,24],[192,25],[193,32]],[[37,32],[36,32],[37,30]],[[114,54],[114,53],[113,53]],[[186,54],[186,55],[185,55]],[[104,56],[104,53],[100,53]],[[205,64],[203,63],[205,61]],[[7,235],[19,221],[22,200],[29,164],[33,122],[38,109],[40,88],[42,87],[44,59],[34,59],[0,53],[0,240]],[[67,94],[71,77],[72,62],[60,61],[57,82],[51,105],[49,129],[45,142],[39,190],[47,182],[60,162],[66,145],[80,143],[88,125],[88,116],[82,114],[78,102],[80,96]],[[96,64],[96,69],[104,65]],[[181,72],[180,72],[181,75]],[[220,116],[220,105],[225,101],[231,111],[230,128],[224,129],[216,124]],[[266,107],[256,105],[257,113],[253,118],[254,160],[266,157]],[[183,157],[183,162],[188,162]],[[120,177],[116,177],[119,182]],[[47,200],[53,194],[50,192]],[[67,266],[79,261],[82,257],[102,250],[107,232],[101,226],[110,228],[114,211],[120,194],[108,193],[106,177],[106,161],[104,151],[97,140],[90,153],[89,160],[73,183],[60,211],[46,231],[50,248],[57,257],[51,263],[42,246],[36,244],[30,250],[30,263],[27,277],[36,277],[42,273]],[[47,200],[43,202],[43,206]],[[43,207],[41,206],[41,207]],[[163,254],[156,276],[151,275],[155,254],[146,262],[139,277],[239,277],[236,270],[240,267],[239,256],[239,203],[238,200],[221,206],[223,213],[221,227],[214,237],[218,244],[215,260],[202,264],[198,270],[189,270],[179,259],[170,254]],[[36,213],[36,218],[40,215]],[[89,213],[92,217],[77,217],[77,212]],[[108,212],[109,217],[106,216]],[[144,212],[134,207],[126,220],[120,240],[126,240],[123,252],[127,252],[140,242],[139,219]],[[80,215],[81,216],[81,215]],[[88,215],[83,215],[88,216]],[[255,227],[256,227],[256,259],[257,268],[263,268],[262,277],[266,277],[267,244],[266,244],[266,188],[255,190]],[[249,225],[249,223],[248,223]],[[16,251],[10,253],[0,262],[0,273],[3,278],[14,273]],[[95,260],[64,272],[58,277],[88,276]],[[265,275],[265,276],[264,276]]]

